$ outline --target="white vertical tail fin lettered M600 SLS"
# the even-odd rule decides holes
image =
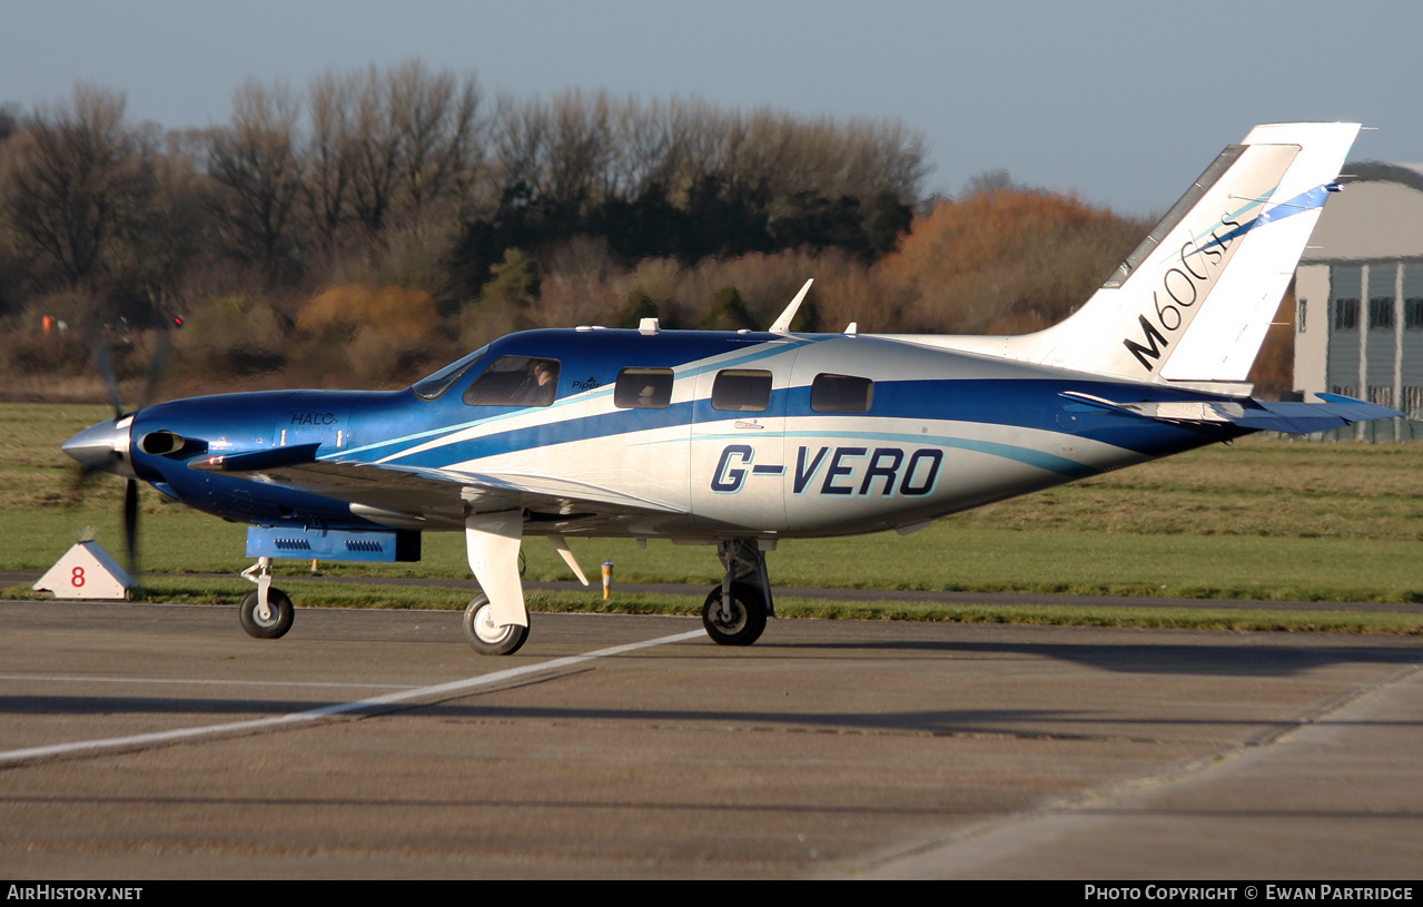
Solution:
[[[1242,382],[1358,132],[1255,127],[1072,318],[1017,337],[933,342],[1137,380]]]

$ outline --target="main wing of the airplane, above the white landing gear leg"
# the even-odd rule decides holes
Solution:
[[[350,501],[376,521],[447,523],[467,514],[529,510],[578,520],[629,514],[682,514],[666,504],[554,476],[457,473],[420,467],[317,460],[317,444],[199,457],[191,468]]]

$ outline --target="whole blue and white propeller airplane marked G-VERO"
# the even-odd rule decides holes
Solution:
[[[65,453],[252,524],[240,608],[280,636],[272,558],[418,560],[462,531],[485,654],[528,635],[519,545],[544,535],[716,545],[703,609],[748,645],[774,614],[783,538],[912,533],[933,520],[1227,441],[1399,416],[1244,383],[1358,124],[1257,127],[1191,184],[1074,315],[1023,336],[794,333],[810,283],[760,332],[515,333],[397,392],[233,393],[161,403]],[[137,507],[134,494],[125,496]],[[129,521],[132,514],[129,514]]]

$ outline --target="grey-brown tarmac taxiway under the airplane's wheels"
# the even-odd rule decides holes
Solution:
[[[1416,879],[1423,639],[0,602],[0,874]]]

